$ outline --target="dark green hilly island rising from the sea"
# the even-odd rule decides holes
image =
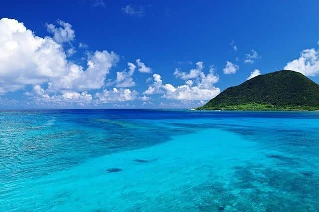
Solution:
[[[319,85],[299,72],[276,71],[229,87],[196,110],[316,111]]]

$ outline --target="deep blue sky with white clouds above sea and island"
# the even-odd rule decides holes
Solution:
[[[0,8],[1,108],[191,108],[251,73],[319,83],[319,3],[31,1]]]

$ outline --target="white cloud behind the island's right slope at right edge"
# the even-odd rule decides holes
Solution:
[[[319,51],[315,49],[305,49],[300,53],[300,57],[287,63],[284,69],[300,72],[306,76],[316,76],[319,74]]]

